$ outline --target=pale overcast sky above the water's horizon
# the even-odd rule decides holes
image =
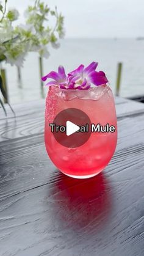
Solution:
[[[144,36],[143,0],[44,0],[65,16],[66,37]],[[34,0],[8,0],[22,14]],[[22,18],[21,18],[21,21]]]

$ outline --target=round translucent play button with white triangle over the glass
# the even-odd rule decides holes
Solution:
[[[54,130],[51,132],[56,141],[64,147],[79,147],[87,142],[91,134],[90,119],[80,109],[68,108],[60,111],[54,118],[53,124]],[[87,131],[84,131],[85,126]]]

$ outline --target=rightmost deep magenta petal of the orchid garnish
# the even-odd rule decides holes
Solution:
[[[106,75],[103,71],[92,71],[89,75],[89,82],[95,84],[95,86],[100,86],[101,84],[106,84],[108,82]]]

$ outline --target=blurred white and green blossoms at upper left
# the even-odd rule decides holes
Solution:
[[[23,65],[24,57],[29,51],[36,51],[40,57],[49,57],[48,45],[59,48],[59,38],[63,38],[63,16],[42,2],[36,0],[24,12],[25,22],[14,26],[19,18],[16,9],[7,11],[7,0],[0,2],[0,62],[5,60],[18,67]],[[55,20],[54,26],[50,18]],[[2,79],[1,92],[2,92]],[[3,94],[3,93],[2,93]],[[0,101],[2,105],[2,100]],[[2,105],[4,108],[4,105]]]

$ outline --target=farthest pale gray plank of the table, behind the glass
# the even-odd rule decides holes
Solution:
[[[144,112],[144,104],[131,100],[116,98],[117,117],[138,115]],[[35,133],[43,133],[45,101],[24,103],[13,106],[16,119],[0,119],[0,142],[17,137],[29,136]],[[11,113],[12,114],[12,113]]]

